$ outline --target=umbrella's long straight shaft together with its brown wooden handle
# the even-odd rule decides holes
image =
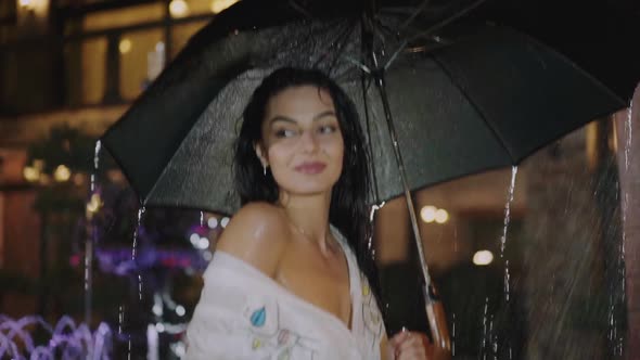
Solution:
[[[373,60],[375,63],[375,55],[373,56]],[[396,134],[396,129],[393,124],[391,106],[388,104],[388,99],[386,95],[383,70],[377,70],[376,73],[373,74],[373,76],[375,79],[376,87],[380,91],[380,97],[382,98],[382,104],[384,107],[386,124],[388,127],[389,136],[392,137],[392,143],[394,146],[394,154],[396,156],[396,162],[398,164],[398,171],[400,173],[400,179],[402,181],[402,188],[405,190],[405,198],[407,200],[407,209],[409,210],[409,218],[411,219],[411,229],[413,231],[413,239],[415,240],[415,247],[418,248],[418,257],[420,259],[420,268],[422,270],[422,277],[424,280],[423,295],[424,295],[424,306],[425,306],[425,310],[426,310],[428,327],[431,330],[434,345],[436,346],[436,349],[437,349],[436,352],[439,355],[439,356],[437,356],[437,358],[438,359],[448,358],[450,355],[451,342],[450,342],[450,337],[449,337],[449,331],[447,329],[447,319],[445,316],[445,308],[443,307],[443,303],[439,300],[439,298],[437,296],[435,287],[431,282],[431,277],[428,274],[428,267],[426,265],[426,260],[424,257],[422,239],[420,236],[420,230],[418,228],[418,219],[415,216],[415,208],[413,207],[413,201],[411,198],[411,191],[410,191],[409,182],[407,181],[407,175],[405,171],[405,164],[402,162],[402,156],[400,154],[400,149],[398,145],[398,137]]]

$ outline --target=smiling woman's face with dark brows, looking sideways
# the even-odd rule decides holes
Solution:
[[[286,88],[267,103],[256,152],[279,188],[291,194],[330,191],[342,172],[344,141],[328,91]]]

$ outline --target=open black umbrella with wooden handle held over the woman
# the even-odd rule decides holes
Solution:
[[[233,213],[233,141],[251,92],[277,67],[318,67],[359,107],[374,160],[371,202],[407,197],[428,288],[411,190],[517,164],[625,106],[508,28],[441,26],[447,9],[329,4],[245,0],[193,37],[104,136],[142,205]],[[447,347],[425,295],[432,334]]]

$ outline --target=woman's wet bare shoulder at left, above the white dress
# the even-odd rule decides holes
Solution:
[[[216,249],[230,254],[273,278],[291,237],[285,221],[282,209],[272,204],[246,204],[231,218],[218,240]]]

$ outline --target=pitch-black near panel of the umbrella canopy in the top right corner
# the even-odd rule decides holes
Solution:
[[[640,1],[492,0],[465,20],[510,26],[567,56],[630,102],[640,81]]]

